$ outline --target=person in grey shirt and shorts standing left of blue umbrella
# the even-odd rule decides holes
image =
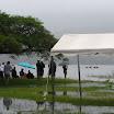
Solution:
[[[5,84],[9,84],[9,78],[10,78],[11,70],[12,70],[12,67],[10,66],[10,61],[8,61],[7,65],[4,66]]]

